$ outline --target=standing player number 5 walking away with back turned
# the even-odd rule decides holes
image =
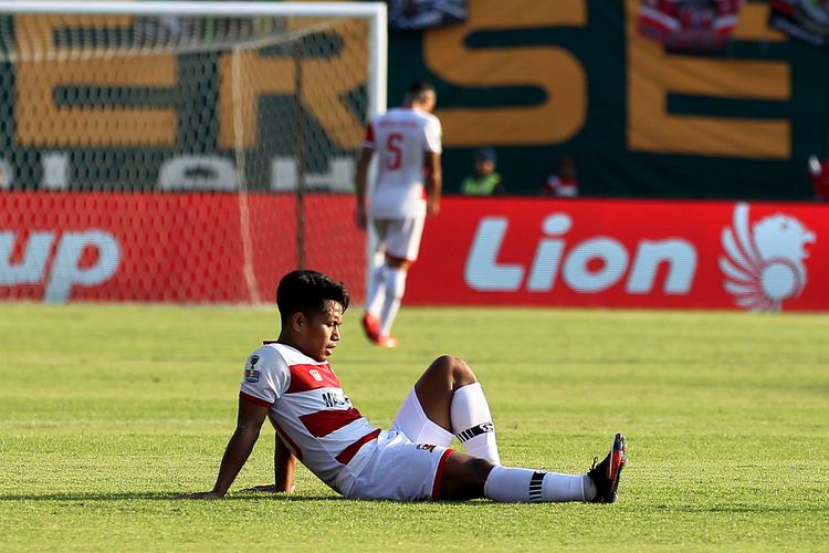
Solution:
[[[409,267],[418,258],[426,217],[438,215],[441,191],[441,126],[432,115],[438,97],[429,83],[416,83],[401,107],[368,125],[357,164],[357,211],[361,229],[377,233],[363,327],[369,340],[395,347],[391,325],[406,291]],[[368,167],[378,154],[377,180],[366,206]]]

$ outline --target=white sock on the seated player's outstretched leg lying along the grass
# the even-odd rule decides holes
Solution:
[[[586,493],[588,482],[590,478],[587,474],[495,467],[484,483],[484,495],[505,503],[589,501]],[[596,497],[596,492],[592,497]]]

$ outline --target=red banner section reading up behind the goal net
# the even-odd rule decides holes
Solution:
[[[273,302],[300,263],[296,207],[273,194],[2,192],[0,300]],[[303,254],[361,301],[353,210],[350,196],[306,196]]]

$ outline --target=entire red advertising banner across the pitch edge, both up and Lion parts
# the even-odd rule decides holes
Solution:
[[[272,302],[302,236],[305,267],[359,303],[353,202],[308,196],[298,233],[291,195],[3,192],[0,300]],[[405,301],[827,311],[827,205],[460,197]]]

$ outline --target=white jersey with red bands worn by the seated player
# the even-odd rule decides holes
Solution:
[[[279,343],[254,351],[239,396],[270,407],[285,445],[317,478],[347,494],[381,430],[351,406],[327,362]]]

